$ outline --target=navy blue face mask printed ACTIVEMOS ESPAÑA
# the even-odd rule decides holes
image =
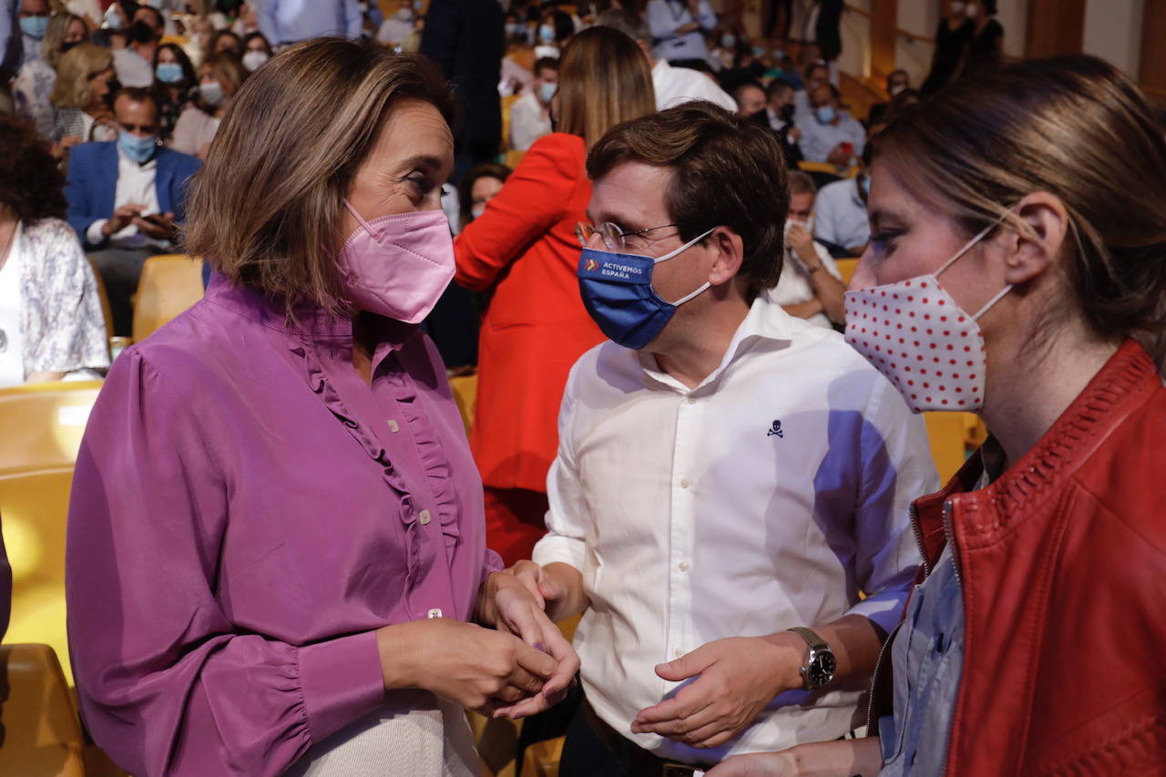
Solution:
[[[667,302],[652,287],[652,268],[680,256],[711,233],[709,230],[698,235],[662,257],[583,249],[578,266],[580,294],[603,334],[637,351],[655,340],[676,307],[703,293],[711,284],[705,281],[691,294]]]

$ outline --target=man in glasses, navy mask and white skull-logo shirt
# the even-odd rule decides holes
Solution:
[[[612,342],[571,370],[549,533],[512,568],[553,618],[583,612],[560,774],[841,737],[919,564],[923,425],[774,299],[789,195],[765,127],[690,103],[609,132],[588,174],[580,290]]]

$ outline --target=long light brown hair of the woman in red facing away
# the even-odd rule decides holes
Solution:
[[[563,51],[557,99],[557,130],[590,148],[617,124],[655,111],[647,57],[619,30],[585,29]]]

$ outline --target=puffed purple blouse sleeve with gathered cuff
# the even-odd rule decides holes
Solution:
[[[232,442],[203,433],[213,408],[180,378],[122,354],[78,455],[65,587],[82,714],[138,777],[274,776],[384,700],[375,635],[292,645],[231,623],[217,568]]]

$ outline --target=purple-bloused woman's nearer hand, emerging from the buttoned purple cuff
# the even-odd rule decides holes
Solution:
[[[557,663],[514,635],[451,618],[377,630],[385,688],[423,688],[489,715],[540,693]]]

